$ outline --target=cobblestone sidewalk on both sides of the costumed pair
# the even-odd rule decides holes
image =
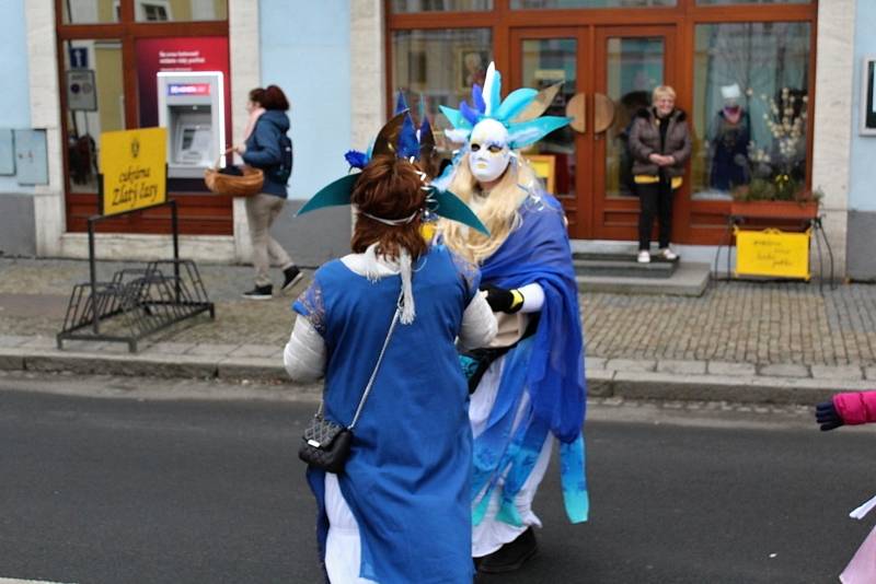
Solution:
[[[118,262],[100,262],[108,279]],[[240,297],[252,268],[198,266],[216,320],[199,316],[153,341],[281,348],[293,322],[289,296]],[[279,280],[279,271],[276,272]],[[0,335],[54,338],[88,262],[0,258]],[[834,290],[794,282],[713,283],[702,297],[581,294],[587,354],[602,359],[718,361],[757,365],[876,365],[876,285]]]

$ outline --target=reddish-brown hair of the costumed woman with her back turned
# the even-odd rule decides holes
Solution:
[[[350,197],[357,209],[350,242],[354,253],[361,254],[374,242],[379,244],[378,253],[391,258],[397,258],[402,247],[413,259],[426,252],[426,241],[419,233],[419,215],[410,223],[387,225],[362,214],[404,219],[423,209],[426,191],[418,173],[418,166],[394,155],[373,159],[365,167]]]

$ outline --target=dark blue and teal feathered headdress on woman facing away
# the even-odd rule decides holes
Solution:
[[[384,155],[397,156],[412,162],[419,161],[420,167],[424,170],[423,188],[427,191],[426,209],[424,211],[429,211],[452,221],[459,221],[474,227],[484,235],[489,235],[489,231],[462,199],[430,182],[435,176],[437,164],[435,137],[428,118],[423,116],[423,124],[417,132],[401,92],[399,93],[395,110],[395,116],[380,129],[377,138],[374,138],[374,141],[366,152],[350,150],[344,155],[350,165],[350,170],[365,168],[372,160]],[[297,214],[308,213],[323,207],[349,205],[353,188],[358,178],[359,173],[348,174],[326,185],[311,197]]]

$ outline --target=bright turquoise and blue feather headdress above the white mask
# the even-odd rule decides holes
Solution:
[[[511,150],[526,148],[572,121],[565,116],[542,116],[558,91],[560,84],[541,92],[523,87],[512,91],[503,101],[502,74],[491,62],[484,86],[476,83],[472,86],[471,105],[462,102],[459,109],[440,106],[441,113],[453,127],[445,133],[453,142],[463,143],[469,140],[479,121],[495,119],[508,129],[508,147]]]

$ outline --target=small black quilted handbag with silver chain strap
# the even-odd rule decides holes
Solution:
[[[310,425],[304,430],[301,436],[301,446],[298,448],[298,457],[307,463],[309,466],[320,468],[326,472],[339,474],[344,470],[344,465],[349,457],[349,449],[353,444],[353,429],[356,422],[359,421],[359,414],[362,412],[365,401],[371,393],[371,387],[374,384],[374,377],[380,369],[380,363],[383,361],[383,353],[387,352],[387,346],[390,343],[392,331],[395,330],[395,325],[399,323],[399,316],[402,309],[402,295],[399,295],[399,302],[395,303],[395,314],[390,323],[390,328],[387,331],[387,338],[383,340],[383,347],[378,354],[377,363],[368,378],[368,384],[365,386],[362,397],[359,400],[359,407],[356,408],[356,414],[353,421],[347,427],[343,427],[331,420],[323,418],[322,409],[324,399],[320,402],[320,409],[316,410]]]

